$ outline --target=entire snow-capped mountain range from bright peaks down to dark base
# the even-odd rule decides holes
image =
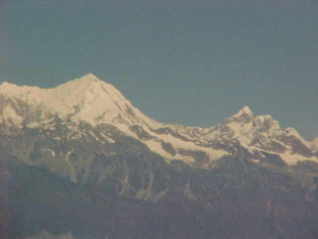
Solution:
[[[317,139],[248,107],[185,127],[91,73],[54,89],[4,82],[0,149],[9,238],[318,236]]]

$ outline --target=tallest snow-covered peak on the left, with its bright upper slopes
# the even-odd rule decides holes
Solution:
[[[17,109],[19,107],[14,105],[21,101],[34,108],[41,108],[42,116],[50,113],[61,119],[83,120],[92,125],[101,122],[153,126],[159,124],[144,116],[114,86],[100,81],[91,73],[53,89],[3,83],[0,86],[0,95],[11,100],[6,107]],[[5,116],[2,111],[3,118],[21,115],[13,114],[12,110],[4,112],[10,112],[10,116]],[[37,119],[41,120],[47,118]],[[22,122],[20,119],[13,121]]]

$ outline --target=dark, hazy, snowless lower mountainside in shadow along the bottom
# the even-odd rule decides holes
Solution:
[[[269,180],[257,181],[242,170],[237,159],[230,157],[213,175],[187,169],[198,186],[202,185],[200,180],[206,180],[204,177],[211,177],[210,182],[216,184],[216,192],[207,189],[208,203],[191,200],[178,188],[156,203],[132,200],[102,188],[70,182],[14,158],[9,161],[7,166],[1,164],[1,170],[8,172],[10,178],[9,223],[3,226],[8,227],[8,238],[12,239],[35,237],[43,231],[52,235],[71,233],[79,239],[318,236],[317,191],[312,201],[304,200],[306,192],[293,179],[260,169],[260,178]]]

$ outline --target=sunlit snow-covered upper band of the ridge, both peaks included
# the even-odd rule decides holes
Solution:
[[[3,83],[0,95],[7,102],[1,106],[2,122],[35,127],[41,121],[47,122],[56,116],[74,122],[85,121],[93,126],[111,123],[167,160],[182,159],[191,164],[193,157],[183,155],[182,150],[178,150],[180,147],[203,151],[210,162],[231,154],[225,150],[226,147],[216,146],[216,141],[223,144],[239,142],[250,153],[255,150],[276,153],[289,164],[295,164],[298,160],[316,160],[315,152],[310,153],[316,150],[314,141],[304,140],[294,128],[280,129],[278,121],[270,115],[254,116],[247,106],[232,117],[207,128],[160,123],[142,114],[114,86],[100,81],[92,73],[52,89]],[[18,104],[17,101],[21,102]],[[27,106],[23,104],[31,108],[26,111]],[[37,117],[28,116],[34,111]],[[287,138],[296,138],[302,150],[295,154],[295,146]],[[176,153],[166,151],[162,144],[171,145]]]

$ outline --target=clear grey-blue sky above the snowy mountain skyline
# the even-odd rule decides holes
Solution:
[[[211,126],[247,105],[318,136],[316,0],[0,2],[0,83],[91,72],[161,122]]]

